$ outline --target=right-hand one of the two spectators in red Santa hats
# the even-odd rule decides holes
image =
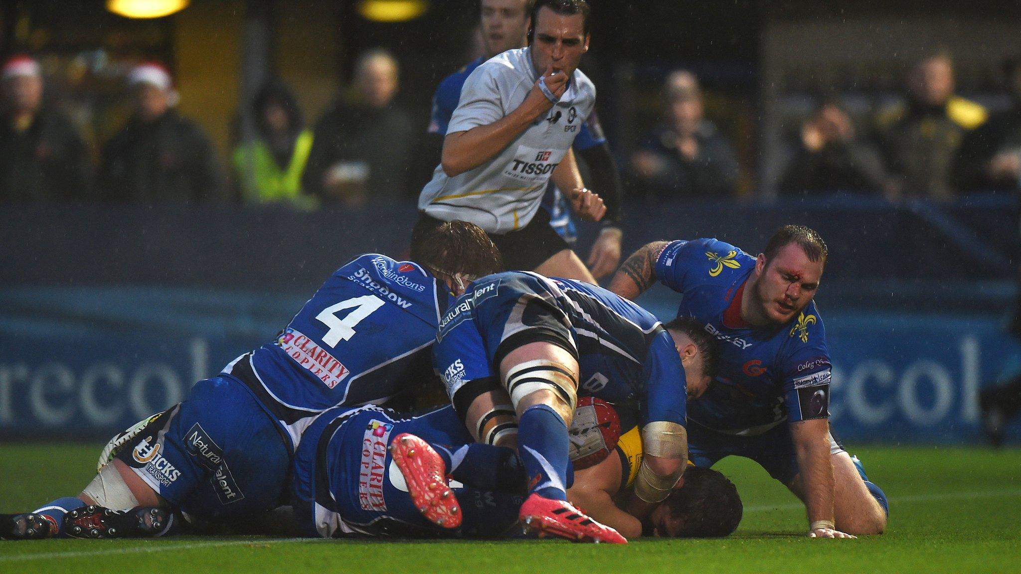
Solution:
[[[224,198],[224,177],[208,138],[174,109],[171,75],[142,63],[128,75],[131,117],[103,149],[99,193],[110,201],[207,203]]]

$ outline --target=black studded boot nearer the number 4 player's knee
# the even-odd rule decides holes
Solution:
[[[144,538],[161,534],[173,520],[171,512],[156,507],[130,511],[89,505],[64,515],[64,532],[72,538]]]

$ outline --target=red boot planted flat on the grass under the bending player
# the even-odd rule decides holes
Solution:
[[[575,542],[628,542],[617,530],[585,516],[570,503],[544,498],[535,492],[521,506],[518,517],[526,532],[537,532],[539,537],[552,534]]]

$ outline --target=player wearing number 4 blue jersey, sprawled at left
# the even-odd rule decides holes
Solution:
[[[333,406],[384,403],[434,378],[440,316],[467,282],[500,269],[496,247],[466,222],[417,234],[411,257],[370,253],[341,267],[274,341],[115,437],[78,497],[0,515],[0,536],[61,534],[64,514],[68,534],[106,537],[171,527],[166,513],[116,514],[136,507],[230,522],[279,506],[305,427]]]

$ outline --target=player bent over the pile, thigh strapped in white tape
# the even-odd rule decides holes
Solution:
[[[568,428],[577,396],[640,404],[623,410],[638,413],[645,453],[625,510],[644,518],[684,472],[686,398],[708,385],[713,348],[691,322],[663,326],[597,286],[504,272],[468,287],[440,321],[433,350],[474,438],[518,447],[530,493],[522,522],[609,541],[610,529],[567,501]]]

